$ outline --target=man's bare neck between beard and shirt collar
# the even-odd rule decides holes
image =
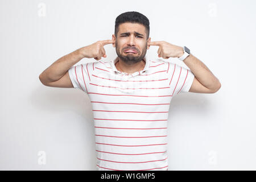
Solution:
[[[146,61],[144,60],[141,60],[138,63],[134,63],[134,64],[127,64],[119,58],[117,63],[115,63],[115,67],[117,68],[117,70],[124,73],[135,73],[138,71],[142,71],[145,65],[146,65]]]

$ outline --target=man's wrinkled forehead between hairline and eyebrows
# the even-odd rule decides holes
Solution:
[[[131,32],[133,34],[134,31],[146,35],[146,27],[143,24],[128,22],[119,24],[118,34],[122,34],[123,32]]]

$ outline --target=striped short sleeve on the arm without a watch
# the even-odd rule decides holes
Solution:
[[[68,69],[68,74],[73,84],[73,87],[88,93],[90,83],[89,65],[79,64]]]

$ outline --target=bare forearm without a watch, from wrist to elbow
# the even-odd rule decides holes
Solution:
[[[46,70],[44,70],[39,78],[42,82],[52,82],[59,80],[73,65],[78,63],[84,56],[80,49],[69,53],[52,63]]]

